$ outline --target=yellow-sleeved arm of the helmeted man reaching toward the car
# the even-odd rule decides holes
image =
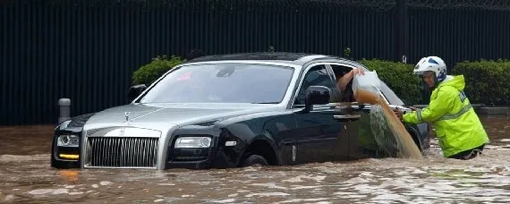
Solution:
[[[431,100],[429,106],[404,114],[402,116],[404,123],[431,123],[445,115],[452,108],[456,97],[455,92],[449,89],[454,88],[443,87],[439,89],[438,97]]]

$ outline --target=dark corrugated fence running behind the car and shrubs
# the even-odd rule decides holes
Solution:
[[[350,47],[354,59],[404,54],[415,64],[438,55],[450,68],[510,58],[510,4],[473,2],[4,0],[0,125],[56,123],[58,98],[72,99],[72,115],[125,104],[132,72],[193,48],[343,55]]]

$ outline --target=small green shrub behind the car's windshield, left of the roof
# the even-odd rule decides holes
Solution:
[[[168,58],[166,55],[157,56],[152,59],[152,62],[140,67],[132,74],[133,84],[145,84],[149,86],[152,82],[156,81],[165,72],[174,68],[178,64],[182,64],[185,60],[181,57],[172,55]]]

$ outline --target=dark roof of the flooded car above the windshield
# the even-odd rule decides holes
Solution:
[[[236,53],[236,54],[225,54],[225,55],[206,55],[197,57],[190,61],[186,61],[185,64],[188,63],[200,63],[200,62],[210,62],[210,61],[231,61],[231,60],[256,60],[256,61],[267,61],[267,62],[275,62],[275,63],[286,63],[286,64],[296,64],[303,65],[307,64],[312,60],[319,59],[336,59],[341,60],[343,58],[333,56],[333,55],[316,55],[316,54],[307,54],[307,53],[287,53],[287,52],[253,52],[253,53]],[[345,59],[344,59],[345,60]]]

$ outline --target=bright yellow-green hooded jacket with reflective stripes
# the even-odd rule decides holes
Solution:
[[[489,141],[478,115],[465,96],[463,75],[448,76],[432,91],[429,106],[403,115],[404,123],[434,123],[445,157]]]

